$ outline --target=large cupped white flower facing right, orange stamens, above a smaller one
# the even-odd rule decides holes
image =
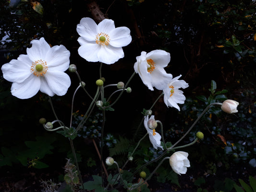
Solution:
[[[139,73],[141,80],[151,91],[154,90],[153,87],[163,90],[170,82],[172,75],[164,70],[171,60],[170,53],[164,50],[153,50],[149,53],[142,51],[136,60],[134,71]]]

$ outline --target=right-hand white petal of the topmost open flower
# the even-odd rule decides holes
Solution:
[[[111,31],[110,45],[114,47],[124,47],[131,43],[132,36],[131,31],[127,27],[117,27]]]

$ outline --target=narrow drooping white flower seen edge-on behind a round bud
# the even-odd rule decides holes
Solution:
[[[158,147],[160,147],[162,150],[163,150],[163,147],[160,145],[161,144],[161,135],[156,132],[155,129],[149,129],[148,125],[147,125],[147,122],[148,120],[155,120],[155,116],[154,115],[151,115],[150,119],[148,119],[148,115],[144,117],[144,126],[146,128],[146,131],[149,135],[149,140],[151,142],[151,144],[153,144],[153,147],[155,149],[158,149]]]

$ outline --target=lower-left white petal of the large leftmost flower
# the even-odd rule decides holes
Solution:
[[[27,99],[32,96],[35,96],[40,88],[40,78],[30,75],[24,82],[21,84],[13,83],[11,92],[13,96],[16,96],[20,99]]]

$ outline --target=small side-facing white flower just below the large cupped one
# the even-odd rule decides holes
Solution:
[[[183,95],[183,91],[179,90],[179,88],[184,89],[188,87],[188,84],[184,80],[178,80],[181,76],[182,75],[173,78],[163,90],[165,105],[167,105],[167,107],[170,106],[177,108],[178,110],[180,110],[180,107],[177,103],[183,104],[186,100],[186,97]]]

